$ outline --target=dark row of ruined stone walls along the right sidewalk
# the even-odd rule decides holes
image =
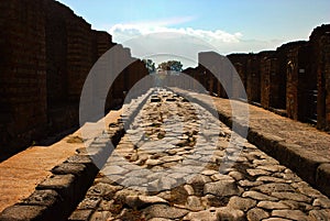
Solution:
[[[188,73],[195,73],[194,76],[197,70],[204,73],[196,79],[210,95],[226,98],[222,85],[212,77],[212,73],[224,70],[221,81],[230,85],[231,98],[241,99],[243,95],[238,92],[237,84],[240,79],[234,78],[220,58],[215,64],[210,55],[210,52],[199,53],[200,65]],[[276,51],[227,57],[239,74],[250,103],[330,130],[330,24],[316,27],[309,41],[290,42]],[[208,59],[213,63],[209,69],[201,65],[210,63]]]

